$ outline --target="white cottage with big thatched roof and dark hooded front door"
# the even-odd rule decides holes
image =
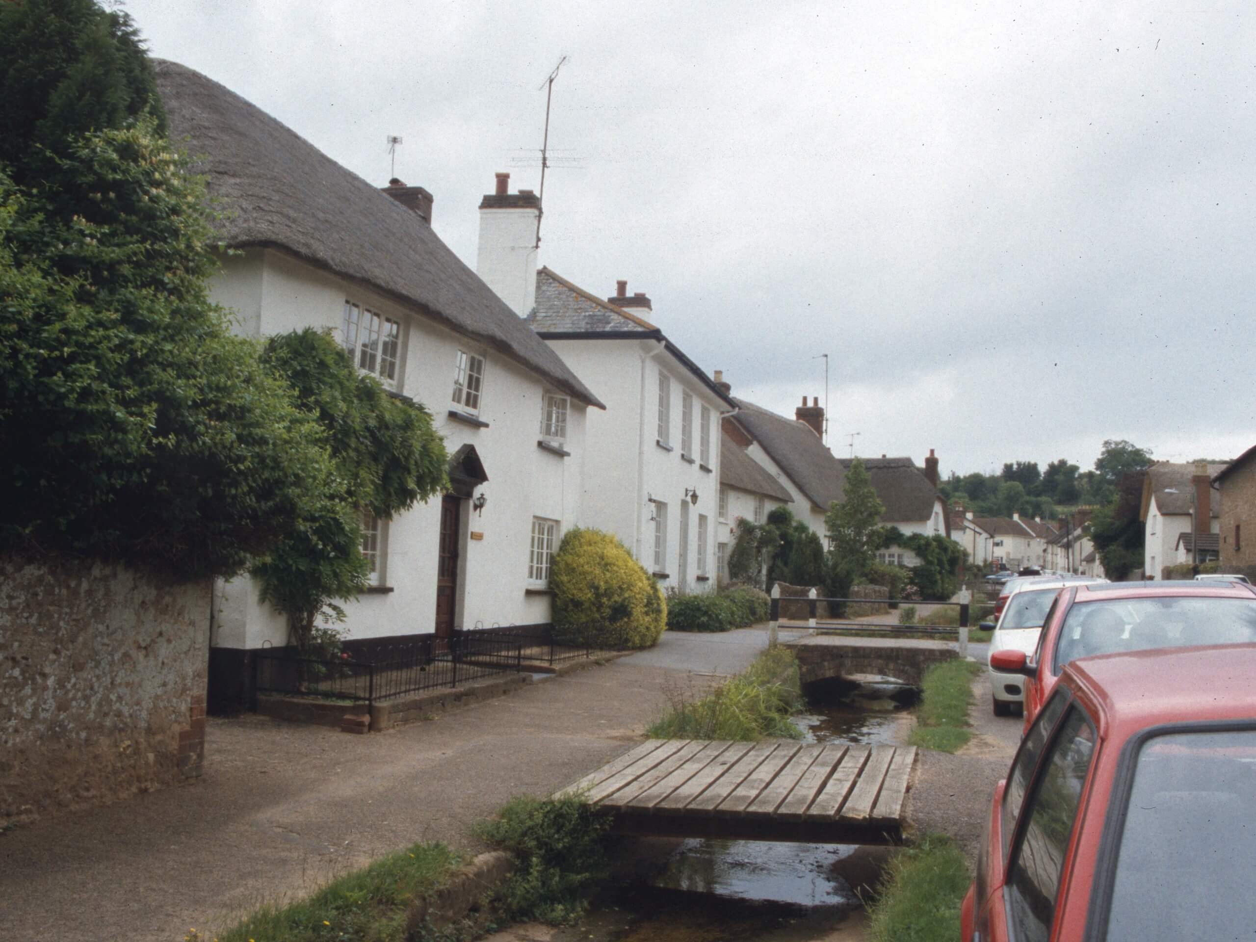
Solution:
[[[381,192],[182,65],[158,62],[157,78],[171,137],[231,214],[214,299],[251,337],[333,332],[432,412],[451,455],[451,494],[367,520],[376,584],[347,605],[348,638],[549,622],[549,558],[580,521],[585,416],[602,403],[432,231],[426,191]],[[286,642],[251,579],[219,587],[220,673]]]

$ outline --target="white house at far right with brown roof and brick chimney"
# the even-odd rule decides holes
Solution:
[[[1212,490],[1212,476],[1225,467],[1225,463],[1161,461],[1147,470],[1139,519],[1144,526],[1143,571],[1148,579],[1162,578],[1166,566],[1192,561],[1196,534],[1201,561],[1206,554],[1216,559],[1220,536],[1212,535],[1221,531],[1221,497]],[[1193,514],[1196,507],[1207,511]]]

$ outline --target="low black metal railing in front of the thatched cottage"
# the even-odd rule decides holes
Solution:
[[[314,697],[354,703],[379,703],[430,690],[458,687],[501,673],[592,658],[592,647],[555,642],[549,625],[474,628],[398,643],[371,643],[360,653],[338,658],[301,658],[288,651],[256,652],[252,659],[256,695]]]

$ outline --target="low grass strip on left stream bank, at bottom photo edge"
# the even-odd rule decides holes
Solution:
[[[217,942],[403,942],[409,904],[438,889],[461,862],[445,844],[414,844],[340,877],[311,897],[288,906],[263,906],[211,938]]]

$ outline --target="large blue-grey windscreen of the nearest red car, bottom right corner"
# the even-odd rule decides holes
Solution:
[[[1148,740],[1113,878],[1109,939],[1251,938],[1256,730]]]

